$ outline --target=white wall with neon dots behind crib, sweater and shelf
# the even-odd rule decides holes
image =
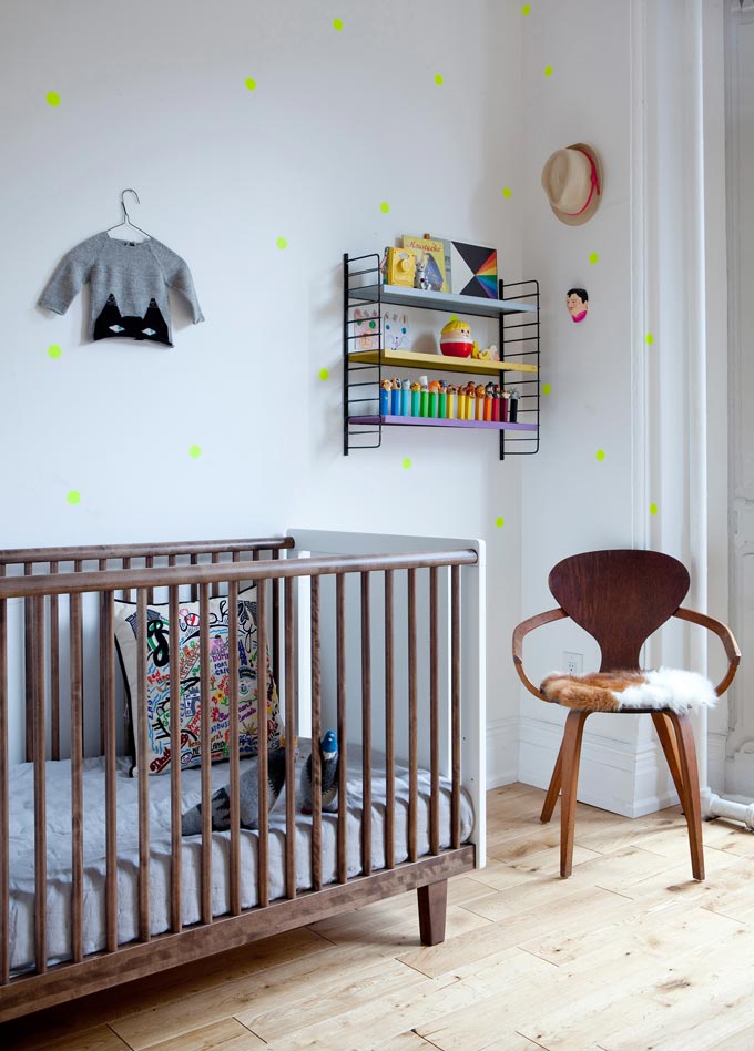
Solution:
[[[516,773],[508,639],[520,478],[536,458],[500,463],[490,436],[418,429],[343,457],[340,258],[430,231],[490,241],[508,279],[532,276],[520,254],[521,25],[520,6],[498,0],[0,9],[0,545],[268,534],[294,521],[480,537],[498,779]],[[191,327],[176,306],[174,350],[86,343],[81,298],[64,317],[34,306],[60,256],[119,221],[126,186],[142,198],[133,221],[188,262],[207,318]],[[608,375],[588,380],[592,400]]]

